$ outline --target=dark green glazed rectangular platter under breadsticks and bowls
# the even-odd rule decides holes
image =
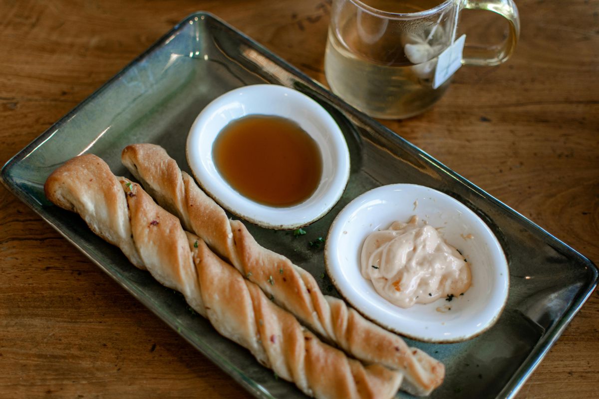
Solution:
[[[84,153],[102,157],[116,175],[128,175],[120,163],[120,152],[137,142],[162,145],[189,171],[185,142],[198,112],[228,90],[256,83],[293,87],[322,104],[346,135],[352,162],[342,199],[307,228],[308,234],[295,239],[289,232],[274,233],[248,224],[258,242],[309,270],[323,293],[338,296],[328,278],[322,278],[322,249],[314,251],[307,243],[326,236],[344,205],[370,188],[391,183],[426,185],[455,197],[482,217],[503,245],[510,266],[509,300],[497,325],[475,339],[450,345],[408,343],[446,365],[445,382],[433,398],[515,395],[597,284],[594,265],[210,14],[193,14],[183,20],[17,154],[2,170],[2,180],[253,395],[302,398],[294,385],[276,379],[246,349],[220,336],[205,319],[192,315],[181,296],[162,287],[149,273],[135,269],[117,248],[90,232],[78,215],[53,206],[43,193],[50,172]]]

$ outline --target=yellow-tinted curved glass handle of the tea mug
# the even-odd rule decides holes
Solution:
[[[464,46],[462,64],[464,65],[500,65],[512,55],[520,36],[520,18],[513,0],[464,0],[463,8],[468,10],[488,10],[500,14],[509,22],[510,31],[506,41],[499,47]]]

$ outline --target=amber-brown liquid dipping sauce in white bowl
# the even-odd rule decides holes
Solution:
[[[231,187],[264,205],[301,203],[322,176],[316,141],[282,117],[250,115],[232,121],[216,137],[212,154]]]

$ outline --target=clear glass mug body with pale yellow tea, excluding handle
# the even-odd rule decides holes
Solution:
[[[348,2],[349,3],[349,2]],[[367,1],[390,13],[418,13],[438,0]],[[432,89],[437,56],[450,44],[455,10],[419,19],[382,18],[341,10],[331,23],[325,72],[331,89],[374,117],[407,118],[440,98],[449,81]]]

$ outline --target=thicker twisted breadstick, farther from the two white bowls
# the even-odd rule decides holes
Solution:
[[[187,303],[261,364],[317,398],[391,398],[402,374],[347,358],[301,327],[234,267],[208,249],[135,183],[114,176],[93,155],[50,175],[46,196],[75,211],[136,266],[183,293]]]

